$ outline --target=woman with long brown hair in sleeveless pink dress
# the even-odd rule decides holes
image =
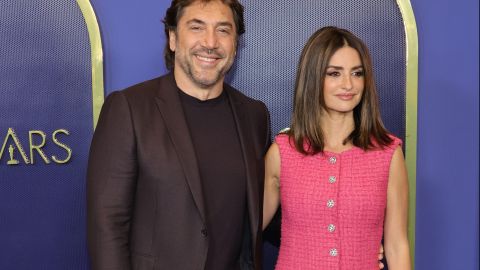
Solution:
[[[365,44],[315,32],[298,64],[290,129],[265,158],[263,226],[282,205],[282,269],[409,270],[408,181],[400,139],[382,124]]]

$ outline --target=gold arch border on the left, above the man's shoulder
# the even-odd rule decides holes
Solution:
[[[85,23],[87,24],[88,37],[90,39],[90,51],[92,58],[93,129],[95,129],[104,100],[102,40],[97,17],[95,16],[95,12],[90,4],[90,1],[77,0],[77,4],[83,13]]]

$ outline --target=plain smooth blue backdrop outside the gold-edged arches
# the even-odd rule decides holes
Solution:
[[[107,93],[165,73],[161,20],[169,1],[91,2],[102,29]],[[479,267],[478,1],[411,3],[419,35],[416,269],[474,270]]]

